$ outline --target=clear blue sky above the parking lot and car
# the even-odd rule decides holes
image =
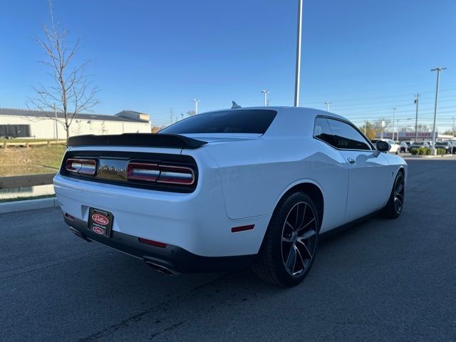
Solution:
[[[261,105],[292,105],[295,0],[108,1],[54,0],[56,21],[78,61],[100,89],[95,113],[123,109],[151,116]],[[0,21],[0,107],[25,108],[32,86],[48,83],[34,38],[48,22],[46,0],[5,1]],[[413,94],[422,94],[420,123],[433,115],[435,73],[440,130],[456,116],[456,1],[304,0],[301,105],[325,108],[356,123],[391,119],[411,125]]]

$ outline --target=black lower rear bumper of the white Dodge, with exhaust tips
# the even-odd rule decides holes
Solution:
[[[63,218],[79,237],[142,259],[153,266],[161,266],[170,270],[172,274],[242,269],[251,264],[256,256],[256,254],[251,254],[234,257],[202,257],[170,244],[166,247],[142,244],[138,237],[121,232],[113,231],[111,237],[104,237],[88,229],[88,222],[82,219],[76,217],[74,219]],[[154,268],[157,269],[157,267]]]

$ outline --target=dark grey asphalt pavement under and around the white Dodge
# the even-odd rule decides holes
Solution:
[[[456,160],[408,163],[403,215],[323,240],[292,289],[158,274],[74,236],[60,209],[1,214],[0,340],[455,341]]]

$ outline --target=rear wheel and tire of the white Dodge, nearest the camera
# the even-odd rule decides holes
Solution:
[[[252,269],[260,279],[295,286],[314,264],[320,221],[314,201],[303,192],[281,199],[272,214]]]

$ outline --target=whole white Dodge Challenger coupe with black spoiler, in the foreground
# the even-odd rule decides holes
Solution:
[[[68,145],[53,184],[71,231],[167,274],[251,264],[293,286],[321,234],[403,210],[404,160],[321,110],[219,110]]]

